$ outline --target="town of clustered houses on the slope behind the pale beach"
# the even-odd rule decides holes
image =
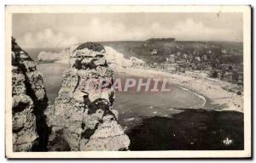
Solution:
[[[150,39],[144,46],[150,46],[152,42],[156,40]],[[203,47],[201,44],[186,47],[186,44],[177,43],[175,39],[161,39],[161,42],[175,46],[168,49],[170,54],[163,52],[161,48],[153,48],[145,63],[133,62],[132,66],[170,73],[199,70],[207,73],[211,78],[243,85],[242,54],[238,50],[205,42]]]

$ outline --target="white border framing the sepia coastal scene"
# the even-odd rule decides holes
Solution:
[[[11,14],[14,13],[242,13],[244,41],[244,150],[13,152]],[[241,158],[251,156],[251,8],[249,6],[7,6],[5,7],[6,156],[8,158]]]

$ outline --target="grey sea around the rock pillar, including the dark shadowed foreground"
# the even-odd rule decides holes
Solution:
[[[25,49],[38,63],[38,53],[61,49]],[[50,102],[61,88],[67,65],[38,63]],[[114,73],[115,77],[127,76]],[[244,149],[243,114],[204,110],[204,99],[189,90],[169,85],[167,93],[116,92],[114,110],[131,139],[131,150],[240,150]]]

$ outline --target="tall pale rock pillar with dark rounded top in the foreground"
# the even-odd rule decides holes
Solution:
[[[113,70],[101,44],[86,42],[70,54],[55,103],[45,114],[49,150],[127,150],[129,138],[113,110]]]

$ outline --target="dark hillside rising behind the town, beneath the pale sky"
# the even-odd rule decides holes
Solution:
[[[103,45],[124,53],[126,58],[135,56],[147,62],[161,63],[171,54],[177,59],[186,59],[195,63],[195,57],[201,61],[219,64],[235,64],[242,62],[242,42],[192,42],[170,41],[170,39],[148,39],[147,41],[101,42]],[[157,53],[152,54],[156,49]],[[153,56],[154,55],[154,56]]]

